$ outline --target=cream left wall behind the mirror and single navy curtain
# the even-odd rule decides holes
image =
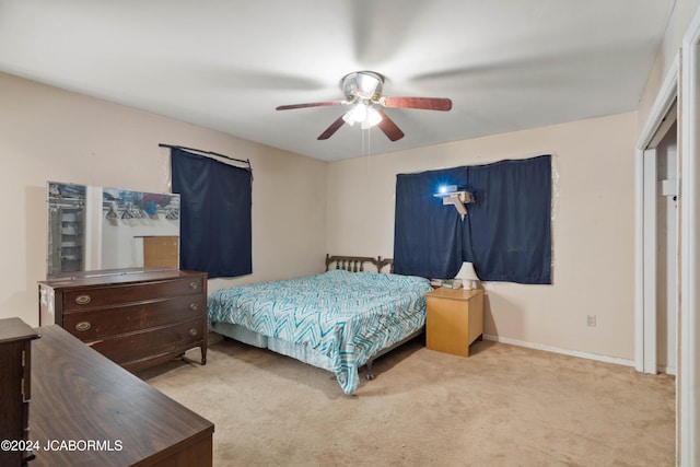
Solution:
[[[326,163],[0,73],[0,318],[38,325],[46,182],[168,191],[170,151],[159,143],[252,162],[253,275],[210,290],[323,270]]]

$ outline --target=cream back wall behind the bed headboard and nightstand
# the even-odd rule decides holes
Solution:
[[[632,361],[635,138],[629,113],[331,163],[327,249],[393,256],[398,173],[552,154],[553,284],[486,283],[485,332]]]

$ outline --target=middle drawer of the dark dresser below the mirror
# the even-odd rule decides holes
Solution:
[[[63,328],[83,341],[190,319],[205,319],[203,295],[184,295],[63,314]]]

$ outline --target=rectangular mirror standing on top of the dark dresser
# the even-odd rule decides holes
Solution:
[[[47,279],[179,266],[179,195],[47,183]]]

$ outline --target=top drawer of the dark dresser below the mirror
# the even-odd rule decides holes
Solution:
[[[200,294],[202,278],[180,278],[158,282],[139,282],[91,289],[74,289],[63,293],[63,312],[155,300],[162,296]]]

